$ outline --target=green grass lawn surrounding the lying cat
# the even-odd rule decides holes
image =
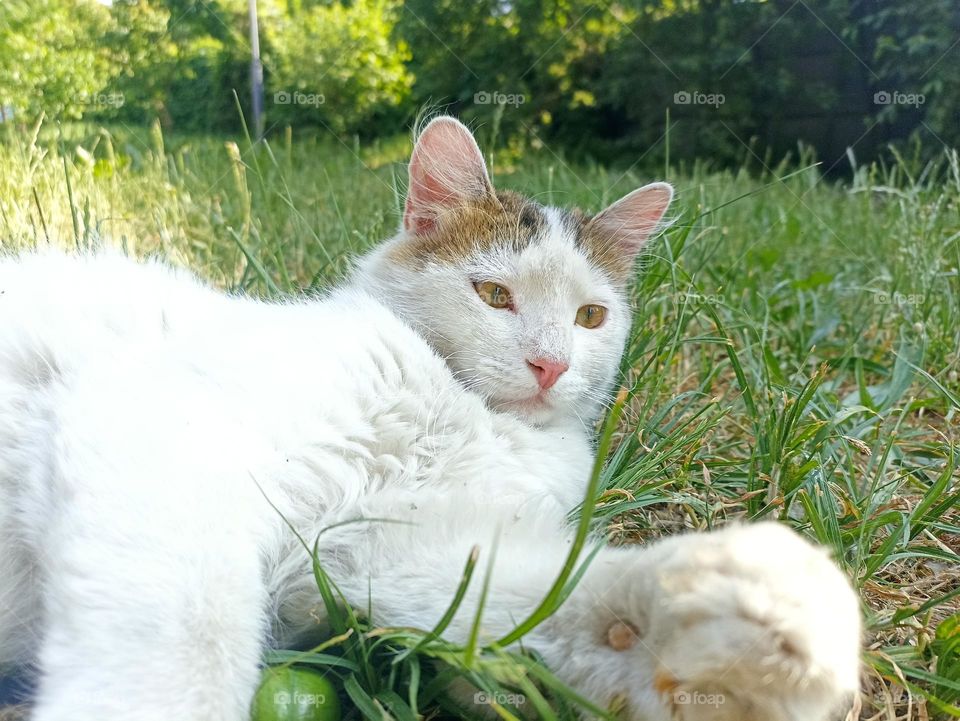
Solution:
[[[391,234],[409,150],[404,138],[4,131],[5,247],[119,244],[264,295],[334,282]],[[588,210],[653,175],[571,166],[547,147],[495,154],[493,167],[503,187]],[[891,153],[841,183],[802,152],[773,168],[745,151],[737,172],[655,174],[679,190],[677,222],[636,284],[595,521],[613,543],[744,517],[789,523],[833,549],[863,599],[852,717],[960,717],[956,153],[923,165]],[[321,568],[317,579],[334,603]],[[273,660],[337,674],[355,717],[457,715],[444,693],[455,677],[522,692],[544,718],[572,718],[579,703],[530,656],[453,648],[438,629],[371,629],[349,610],[332,625],[323,649]]]

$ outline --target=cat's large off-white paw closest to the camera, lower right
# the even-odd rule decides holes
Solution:
[[[638,620],[611,624],[607,643],[643,645],[668,718],[825,721],[852,700],[859,601],[823,549],[765,523],[650,551]]]

